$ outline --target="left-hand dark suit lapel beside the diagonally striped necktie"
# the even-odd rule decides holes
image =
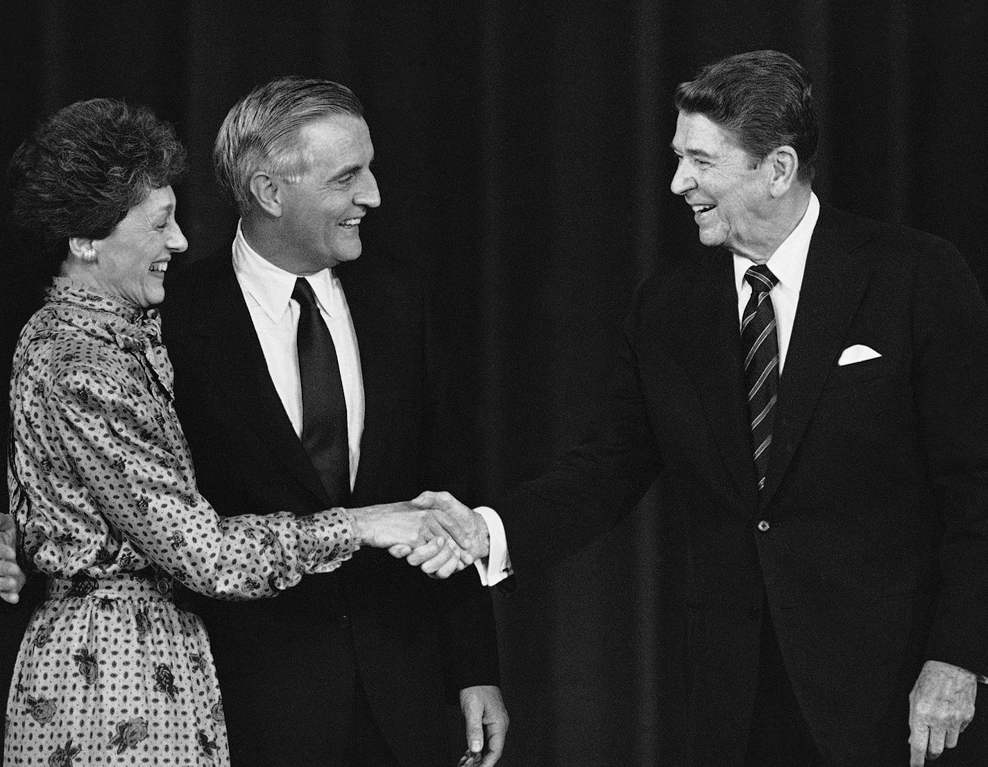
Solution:
[[[685,299],[683,364],[697,385],[724,464],[747,505],[755,508],[758,491],[741,375],[737,290],[726,251],[707,251],[688,269]]]

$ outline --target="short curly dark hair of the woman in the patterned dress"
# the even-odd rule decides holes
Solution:
[[[109,236],[131,207],[186,167],[174,128],[150,110],[114,99],[76,102],[44,119],[11,158],[9,228],[50,277],[70,237]]]

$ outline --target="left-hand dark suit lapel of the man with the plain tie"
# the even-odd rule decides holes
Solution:
[[[216,386],[243,416],[257,438],[268,445],[285,469],[310,492],[329,505],[301,441],[285,412],[268,372],[243,292],[228,256],[215,272],[216,283],[207,289],[210,306],[212,354]]]

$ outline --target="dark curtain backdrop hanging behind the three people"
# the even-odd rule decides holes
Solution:
[[[362,258],[391,252],[428,276],[453,376],[440,455],[474,504],[580,438],[632,286],[695,248],[668,189],[670,97],[708,60],[775,47],[802,61],[821,198],[947,237],[988,286],[975,0],[39,0],[0,6],[0,36],[0,163],[72,101],[154,108],[192,158],[177,190],[187,259],[236,223],[209,162],[233,102],[289,72],[350,85],[383,198]],[[27,310],[20,259],[4,252],[6,368]],[[646,499],[553,575],[495,595],[506,767],[663,763],[653,725],[675,716],[663,669],[676,652],[655,620],[660,512]],[[22,618],[0,623],[16,634]]]

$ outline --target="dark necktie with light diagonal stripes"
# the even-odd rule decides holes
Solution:
[[[758,489],[765,487],[772,444],[772,422],[779,391],[779,338],[776,312],[769,291],[779,282],[764,264],[749,268],[744,278],[751,285],[751,298],[741,320],[741,351],[744,353],[744,380],[751,413],[751,439],[755,451]]]

